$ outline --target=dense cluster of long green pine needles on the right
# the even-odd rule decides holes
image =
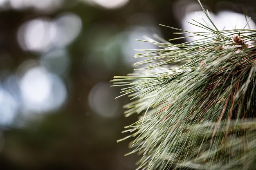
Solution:
[[[124,131],[139,170],[256,169],[256,30],[220,31],[202,9],[205,32],[176,29],[199,40],[146,41],[159,49],[112,80],[132,100],[125,115],[139,114]]]

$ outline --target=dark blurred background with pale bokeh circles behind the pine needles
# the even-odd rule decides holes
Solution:
[[[256,1],[201,2],[220,29],[243,28],[244,14],[255,29]],[[135,39],[177,37],[159,23],[193,30],[195,11],[196,0],[0,0],[0,169],[134,170],[129,140],[116,140],[137,117],[109,80],[132,72],[134,49],[158,48]]]

